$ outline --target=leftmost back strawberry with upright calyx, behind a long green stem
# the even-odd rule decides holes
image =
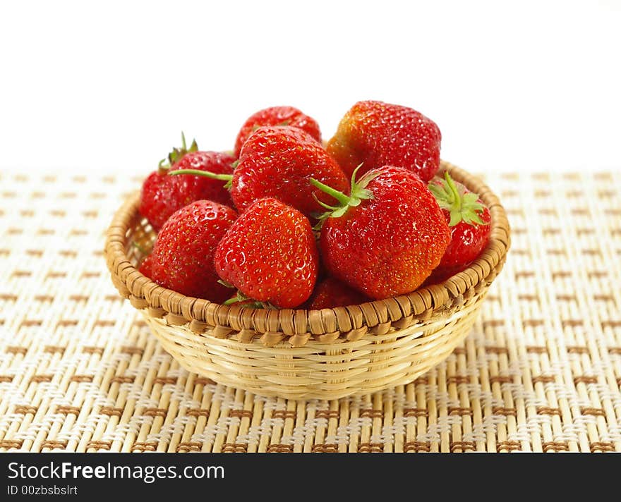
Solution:
[[[181,135],[183,146],[169,154],[170,166],[164,161],[143,182],[140,194],[140,214],[145,216],[158,231],[171,214],[195,200],[212,200],[232,206],[228,190],[217,180],[199,176],[166,176],[169,169],[194,169],[212,173],[232,173],[234,157],[221,152],[200,152],[193,141],[186,147],[186,138]]]

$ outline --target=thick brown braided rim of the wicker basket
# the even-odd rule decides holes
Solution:
[[[302,335],[309,331],[319,334],[350,331],[360,326],[371,328],[404,318],[428,319],[488,286],[502,267],[510,247],[509,221],[504,207],[492,190],[476,176],[442,160],[438,173],[443,171],[449,171],[454,180],[477,192],[489,208],[492,225],[489,242],[464,271],[442,283],[418,288],[412,293],[322,310],[251,310],[182,295],[159,286],[141,274],[126,255],[127,232],[138,215],[139,190],[133,192],[116,210],[107,229],[104,257],[114,286],[123,297],[130,298],[134,307],[140,310],[148,308],[154,317],[167,314],[169,318],[174,318],[174,324],[190,322],[195,326],[224,326],[238,331]]]

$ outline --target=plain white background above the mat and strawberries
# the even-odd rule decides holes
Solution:
[[[621,170],[621,1],[0,6],[0,169],[148,173],[275,104],[411,106],[471,171]]]

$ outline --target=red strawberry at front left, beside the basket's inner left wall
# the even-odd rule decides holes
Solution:
[[[147,263],[152,281],[183,295],[227,300],[231,289],[218,282],[213,257],[236,217],[230,207],[210,200],[191,202],[172,214],[157,234]]]

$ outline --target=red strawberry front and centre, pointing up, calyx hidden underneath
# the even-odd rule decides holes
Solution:
[[[280,308],[298,307],[308,300],[318,261],[308,219],[271,197],[248,207],[215,253],[216,271],[224,281],[247,298]]]

